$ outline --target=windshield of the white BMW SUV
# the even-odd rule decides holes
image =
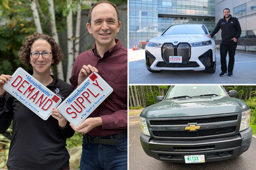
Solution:
[[[203,30],[203,25],[173,25],[163,33],[163,35],[174,34],[207,34]]]

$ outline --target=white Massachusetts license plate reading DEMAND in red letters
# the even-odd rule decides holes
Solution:
[[[18,68],[3,88],[43,120],[51,115],[61,99],[24,69]]]

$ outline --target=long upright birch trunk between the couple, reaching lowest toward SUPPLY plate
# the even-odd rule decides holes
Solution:
[[[70,4],[72,4],[72,1],[70,1]],[[68,5],[68,4],[67,4]],[[66,76],[66,82],[70,83],[69,78],[72,74],[72,67],[74,62],[74,46],[73,46],[73,20],[72,20],[72,9],[70,9],[70,13],[68,14],[67,18],[67,24],[68,24],[68,68],[67,68],[67,76]]]

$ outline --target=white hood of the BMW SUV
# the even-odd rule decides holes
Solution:
[[[203,34],[177,34],[177,35],[161,35],[160,37],[154,37],[153,39],[150,39],[150,42],[156,42],[156,43],[166,43],[171,42],[173,44],[178,44],[180,42],[202,42],[202,41],[209,41],[211,38],[206,37],[207,35]],[[178,41],[175,43],[175,41]]]

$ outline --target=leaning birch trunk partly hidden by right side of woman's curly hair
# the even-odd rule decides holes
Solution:
[[[55,20],[53,0],[48,0],[48,3],[49,3],[49,14],[51,15],[50,23],[51,23],[52,36],[53,36],[53,39],[56,41],[56,43],[60,44],[58,41],[58,33],[57,33],[57,29],[56,29],[56,20]],[[58,63],[58,65],[57,65],[57,75],[58,75],[58,78],[60,78],[61,80],[64,80],[62,62]]]

